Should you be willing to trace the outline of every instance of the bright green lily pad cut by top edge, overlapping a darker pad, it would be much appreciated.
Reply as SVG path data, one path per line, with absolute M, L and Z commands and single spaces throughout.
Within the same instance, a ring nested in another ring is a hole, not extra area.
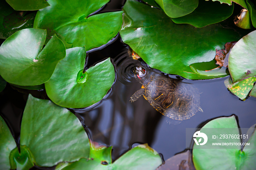
M 170 18 L 177 18 L 194 11 L 198 5 L 198 0 L 155 0 Z

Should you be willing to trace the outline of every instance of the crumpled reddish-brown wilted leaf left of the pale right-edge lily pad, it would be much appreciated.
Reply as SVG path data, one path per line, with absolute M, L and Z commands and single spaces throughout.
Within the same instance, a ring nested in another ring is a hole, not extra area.
M 236 41 L 227 42 L 225 44 L 225 49 L 221 49 L 221 50 L 216 49 L 216 55 L 215 55 L 215 60 L 217 61 L 216 64 L 227 67 L 229 53 L 236 43 L 237 43 Z

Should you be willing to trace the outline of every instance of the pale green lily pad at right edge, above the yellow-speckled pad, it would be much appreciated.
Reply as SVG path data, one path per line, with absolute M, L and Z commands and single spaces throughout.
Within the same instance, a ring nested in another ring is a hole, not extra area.
M 233 83 L 256 76 L 256 31 L 241 38 L 229 54 L 229 72 Z

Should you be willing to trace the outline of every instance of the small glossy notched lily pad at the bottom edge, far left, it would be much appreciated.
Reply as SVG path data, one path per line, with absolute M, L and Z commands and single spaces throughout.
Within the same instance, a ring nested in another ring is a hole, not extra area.
M 28 170 L 35 165 L 35 158 L 26 146 L 20 146 L 11 151 L 10 154 L 11 169 Z

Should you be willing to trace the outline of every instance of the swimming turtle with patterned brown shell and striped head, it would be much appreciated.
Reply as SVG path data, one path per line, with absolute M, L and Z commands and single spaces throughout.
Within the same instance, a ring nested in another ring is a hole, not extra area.
M 132 102 L 143 95 L 158 112 L 175 120 L 189 119 L 198 110 L 202 111 L 199 91 L 191 84 L 158 73 L 150 74 L 141 66 L 135 67 L 133 73 L 143 86 L 132 95 Z

